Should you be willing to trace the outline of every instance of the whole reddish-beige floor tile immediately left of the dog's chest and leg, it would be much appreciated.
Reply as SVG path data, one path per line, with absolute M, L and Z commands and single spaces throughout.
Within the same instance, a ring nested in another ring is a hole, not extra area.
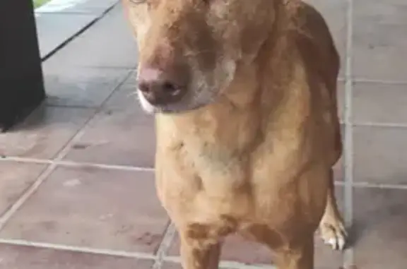
M 60 167 L 0 237 L 153 253 L 167 222 L 152 172 Z

